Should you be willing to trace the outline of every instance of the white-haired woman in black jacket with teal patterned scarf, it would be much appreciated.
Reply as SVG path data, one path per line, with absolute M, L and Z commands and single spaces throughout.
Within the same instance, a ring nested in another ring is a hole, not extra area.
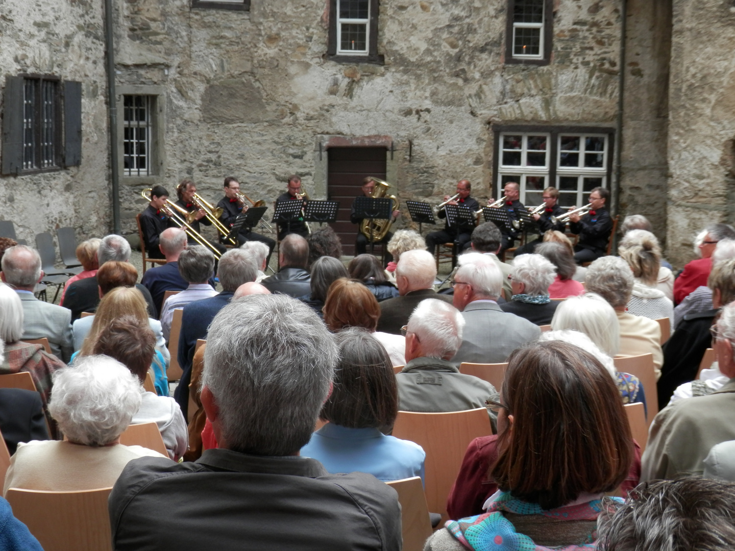
M 513 259 L 509 275 L 513 296 L 501 309 L 526 318 L 536 325 L 548 325 L 559 304 L 549 298 L 549 286 L 556 278 L 556 267 L 540 254 L 523 254 Z

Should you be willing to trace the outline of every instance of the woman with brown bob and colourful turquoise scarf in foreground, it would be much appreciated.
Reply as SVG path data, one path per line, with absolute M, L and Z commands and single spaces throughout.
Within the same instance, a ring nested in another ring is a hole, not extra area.
M 634 459 L 607 370 L 574 345 L 534 342 L 512 353 L 495 406 L 498 459 L 490 476 L 498 491 L 486 513 L 448 522 L 424 549 L 484 550 L 498 539 L 517 549 L 592 544 L 600 501 Z

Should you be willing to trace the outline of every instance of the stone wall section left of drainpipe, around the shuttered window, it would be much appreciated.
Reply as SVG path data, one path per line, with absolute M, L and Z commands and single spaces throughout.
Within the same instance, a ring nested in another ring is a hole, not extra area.
M 18 238 L 73 226 L 77 238 L 111 226 L 104 33 L 99 0 L 0 2 L 0 69 L 82 82 L 82 164 L 24 176 L 0 176 L 0 218 Z M 4 104 L 3 104 L 4 105 Z M 4 112 L 4 108 L 3 108 Z

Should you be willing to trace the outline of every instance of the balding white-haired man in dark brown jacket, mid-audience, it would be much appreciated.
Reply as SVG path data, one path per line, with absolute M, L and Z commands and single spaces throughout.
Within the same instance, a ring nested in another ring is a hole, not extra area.
M 437 264 L 431 253 L 419 250 L 401 253 L 398 267 L 395 268 L 395 284 L 400 296 L 380 303 L 378 331 L 400 335 L 413 309 L 425 298 L 451 302 L 451 297 L 434 291 L 436 278 Z

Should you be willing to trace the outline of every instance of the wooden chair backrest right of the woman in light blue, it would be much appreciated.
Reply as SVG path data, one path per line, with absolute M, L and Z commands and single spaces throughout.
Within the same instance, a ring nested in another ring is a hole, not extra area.
M 448 413 L 398 411 L 393 436 L 416 442 L 426 452 L 424 481 L 429 510 L 447 520 L 447 497 L 465 450 L 478 436 L 490 436 L 487 408 Z

